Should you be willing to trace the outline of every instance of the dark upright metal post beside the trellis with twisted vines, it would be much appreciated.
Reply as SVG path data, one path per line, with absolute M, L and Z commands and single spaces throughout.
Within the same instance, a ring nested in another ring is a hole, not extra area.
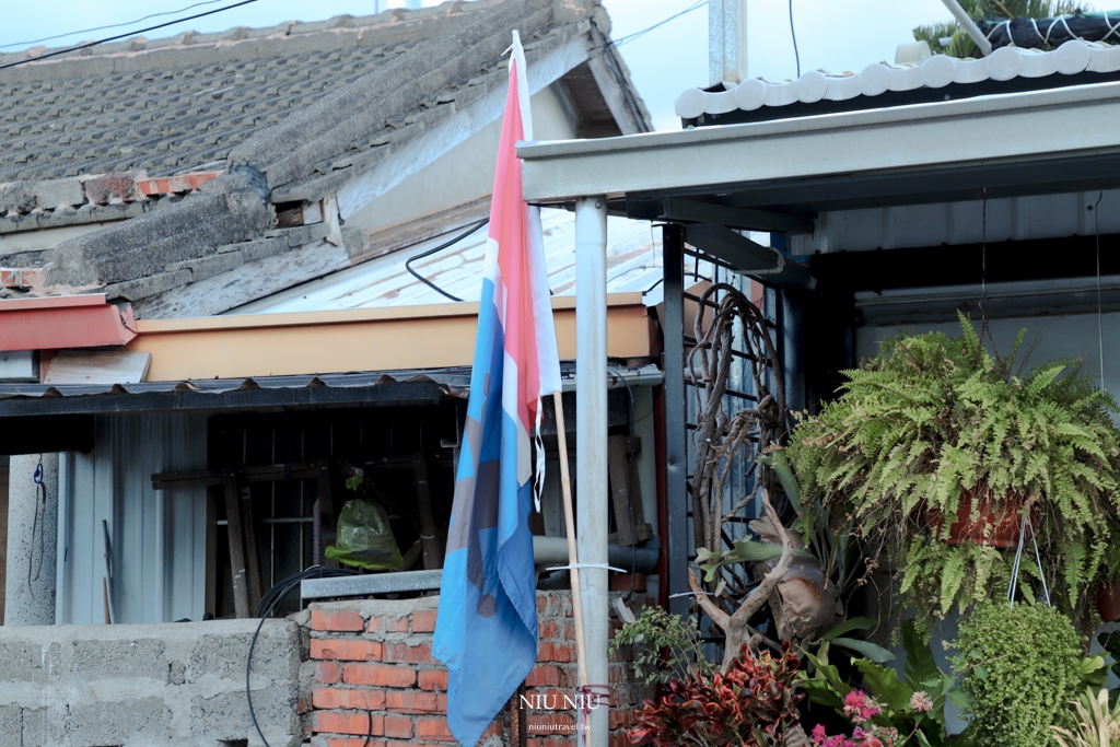
M 665 318 L 661 329 L 665 340 L 665 503 L 666 522 L 661 541 L 665 545 L 669 609 L 688 615 L 690 599 L 674 597 L 689 590 L 689 495 L 688 441 L 684 431 L 684 230 L 679 225 L 661 228 L 664 259 Z

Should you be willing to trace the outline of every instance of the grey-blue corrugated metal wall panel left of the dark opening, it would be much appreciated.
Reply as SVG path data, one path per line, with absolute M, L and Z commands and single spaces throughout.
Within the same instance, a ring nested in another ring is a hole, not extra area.
M 92 451 L 66 459 L 58 622 L 104 622 L 102 521 L 118 623 L 202 619 L 205 489 L 155 491 L 151 474 L 205 468 L 205 415 L 101 415 L 96 437 Z

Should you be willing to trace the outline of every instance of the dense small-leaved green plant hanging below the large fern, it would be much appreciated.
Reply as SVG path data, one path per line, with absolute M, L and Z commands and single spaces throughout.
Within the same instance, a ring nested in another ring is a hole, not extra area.
M 961 623 L 954 657 L 977 744 L 1054 745 L 1049 727 L 1068 725 L 1066 703 L 1082 687 L 1080 644 L 1070 618 L 1051 607 L 977 605 Z

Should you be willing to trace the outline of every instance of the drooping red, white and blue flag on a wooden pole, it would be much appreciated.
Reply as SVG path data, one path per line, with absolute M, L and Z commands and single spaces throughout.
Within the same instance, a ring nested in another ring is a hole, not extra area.
M 560 362 L 539 208 L 522 198 L 515 151 L 519 140 L 531 138 L 525 56 L 514 31 L 432 646 L 448 669 L 447 723 L 467 747 L 536 662 L 530 433 L 540 422 L 541 398 L 560 391 Z M 538 478 L 542 456 L 539 450 Z

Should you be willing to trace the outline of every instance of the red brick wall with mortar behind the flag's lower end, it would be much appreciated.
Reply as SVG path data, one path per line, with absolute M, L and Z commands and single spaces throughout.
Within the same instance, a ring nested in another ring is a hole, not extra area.
M 314 680 L 307 685 L 312 747 L 363 747 L 368 735 L 367 747 L 455 744 L 444 717 L 447 670 L 431 655 L 438 603 L 438 597 L 426 597 L 310 606 L 306 666 Z M 556 695 L 554 702 L 563 703 L 578 683 L 571 594 L 538 592 L 536 615 L 538 663 L 525 682 L 526 694 Z M 628 655 L 619 651 L 610 662 L 612 747 L 629 744 L 625 730 L 633 709 L 648 695 L 634 683 Z M 576 744 L 575 711 L 541 709 L 525 716 L 526 747 Z M 511 744 L 508 710 L 479 744 Z

